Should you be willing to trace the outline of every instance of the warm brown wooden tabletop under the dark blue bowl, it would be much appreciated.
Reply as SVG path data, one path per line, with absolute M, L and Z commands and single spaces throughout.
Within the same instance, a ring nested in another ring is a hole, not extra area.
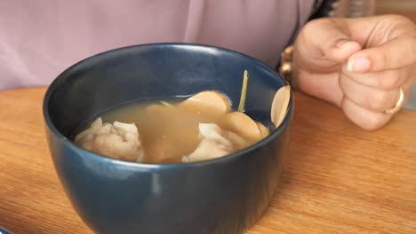
M 44 91 L 0 92 L 0 227 L 91 233 L 52 165 Z M 366 132 L 332 105 L 300 93 L 295 102 L 290 160 L 248 233 L 416 233 L 416 112 Z

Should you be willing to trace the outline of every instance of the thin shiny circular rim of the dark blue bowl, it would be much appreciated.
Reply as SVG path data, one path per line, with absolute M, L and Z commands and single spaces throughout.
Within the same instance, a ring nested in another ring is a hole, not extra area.
M 246 154 L 249 154 L 249 152 L 252 152 L 258 148 L 266 146 L 271 141 L 273 141 L 277 136 L 280 136 L 284 132 L 284 129 L 288 128 L 289 124 L 292 121 L 292 116 L 294 112 L 294 99 L 292 95 L 292 89 L 291 89 L 291 98 L 289 101 L 288 109 L 287 109 L 287 112 L 285 113 L 284 120 L 282 121 L 280 126 L 278 126 L 276 129 L 271 131 L 268 136 L 262 138 L 260 141 L 256 142 L 255 144 L 252 144 L 242 150 L 230 153 L 220 158 L 211 159 L 211 160 L 201 160 L 201 161 L 187 162 L 187 163 L 182 163 L 182 162 L 181 163 L 141 163 L 141 162 L 135 162 L 135 161 L 118 160 L 118 159 L 110 158 L 106 155 L 88 151 L 84 149 L 83 147 L 80 147 L 74 144 L 71 140 L 68 139 L 67 136 L 64 136 L 63 134 L 60 133 L 60 130 L 58 130 L 55 127 L 55 125 L 52 123 L 52 120 L 50 118 L 49 111 L 48 111 L 48 106 L 49 106 L 52 93 L 54 92 L 54 90 L 56 90 L 59 87 L 60 82 L 66 79 L 65 77 L 67 73 L 76 69 L 77 66 L 83 65 L 85 62 L 100 58 L 108 54 L 112 54 L 112 53 L 116 53 L 120 51 L 129 51 L 134 48 L 140 48 L 140 47 L 158 47 L 158 46 L 196 47 L 196 48 L 220 50 L 220 51 L 224 51 L 227 53 L 236 54 L 243 58 L 252 60 L 256 64 L 256 66 L 262 66 L 263 68 L 271 72 L 271 74 L 275 74 L 277 79 L 280 79 L 284 83 L 289 85 L 289 83 L 280 74 L 274 71 L 270 66 L 267 66 L 266 64 L 261 62 L 259 59 L 253 58 L 252 56 L 246 55 L 239 51 L 233 51 L 233 50 L 219 47 L 219 46 L 207 45 L 207 44 L 202 44 L 202 43 L 142 43 L 142 44 L 134 44 L 134 45 L 124 46 L 124 47 L 119 47 L 119 48 L 108 50 L 108 51 L 102 51 L 90 57 L 84 58 L 76 62 L 72 66 L 68 66 L 68 68 L 66 68 L 63 72 L 58 74 L 58 76 L 52 81 L 52 83 L 47 88 L 44 94 L 44 100 L 43 100 L 43 105 L 42 105 L 44 122 L 45 122 L 46 127 L 55 136 L 57 141 L 59 141 L 60 144 L 67 145 L 67 147 L 69 147 L 71 150 L 83 152 L 83 155 L 87 155 L 86 157 L 92 157 L 92 160 L 100 160 L 103 162 L 109 162 L 109 163 L 116 164 L 116 165 L 124 165 L 124 166 L 129 166 L 132 168 L 153 168 L 153 169 L 194 168 L 194 167 L 202 167 L 205 165 L 212 165 L 212 164 L 219 164 L 219 163 L 222 164 L 222 163 L 227 163 L 228 161 L 231 161 L 231 160 L 236 160 L 237 158 L 240 158 Z M 51 156 L 53 157 L 52 152 L 51 152 Z

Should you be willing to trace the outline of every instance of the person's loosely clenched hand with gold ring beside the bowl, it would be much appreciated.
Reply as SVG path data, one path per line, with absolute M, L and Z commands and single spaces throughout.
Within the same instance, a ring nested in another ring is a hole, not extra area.
M 402 16 L 312 20 L 293 51 L 292 80 L 311 96 L 340 106 L 367 130 L 391 120 L 416 77 L 416 26 Z

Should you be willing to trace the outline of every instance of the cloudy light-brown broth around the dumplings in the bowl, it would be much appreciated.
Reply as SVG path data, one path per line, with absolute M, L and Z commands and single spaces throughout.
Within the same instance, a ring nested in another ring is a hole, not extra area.
M 200 123 L 214 123 L 230 132 L 238 132 L 245 127 L 238 126 L 238 121 L 233 122 L 229 121 L 229 118 L 224 118 L 227 113 L 212 112 L 207 108 L 200 108 L 199 105 L 181 108 L 178 104 L 184 99 L 164 98 L 132 102 L 111 108 L 101 113 L 99 117 L 102 118 L 102 122 L 135 123 L 144 151 L 140 160 L 142 163 L 182 162 L 182 157 L 194 152 L 200 144 L 201 136 L 198 128 Z M 264 127 L 260 122 L 257 124 Z M 250 135 L 239 136 L 243 141 L 239 141 L 236 150 L 259 141 L 258 138 Z

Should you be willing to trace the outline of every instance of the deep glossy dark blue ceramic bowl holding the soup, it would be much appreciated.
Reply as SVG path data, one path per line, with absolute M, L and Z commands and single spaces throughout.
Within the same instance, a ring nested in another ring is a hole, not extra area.
M 83 221 L 104 234 L 240 233 L 256 222 L 281 173 L 292 99 L 283 124 L 268 137 L 216 160 L 140 164 L 88 152 L 69 139 L 96 114 L 132 100 L 220 90 L 238 104 L 245 69 L 246 110 L 269 122 L 272 99 L 286 82 L 236 51 L 144 44 L 84 59 L 60 74 L 44 97 L 46 136 L 60 182 Z

